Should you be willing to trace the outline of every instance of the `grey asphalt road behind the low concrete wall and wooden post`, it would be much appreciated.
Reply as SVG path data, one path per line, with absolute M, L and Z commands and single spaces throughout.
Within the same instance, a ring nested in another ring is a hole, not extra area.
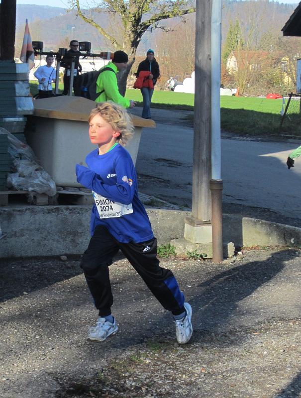
M 191 207 L 193 128 L 185 126 L 187 113 L 152 110 L 157 127 L 143 129 L 136 169 L 142 193 Z M 301 159 L 291 170 L 286 166 L 299 145 L 297 140 L 273 142 L 264 132 L 259 138 L 223 133 L 223 201 L 301 219 Z

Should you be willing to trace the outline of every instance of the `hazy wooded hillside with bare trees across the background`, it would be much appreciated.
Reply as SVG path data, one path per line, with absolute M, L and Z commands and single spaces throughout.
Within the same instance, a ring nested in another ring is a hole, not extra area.
M 281 29 L 296 6 L 297 4 L 267 0 L 223 2 L 222 83 L 225 87 L 240 85 L 247 94 L 293 90 L 296 83 L 296 60 L 301 57 L 301 38 L 283 37 Z M 71 27 L 74 26 L 73 38 L 91 41 L 95 52 L 114 51 L 112 43 L 100 35 L 94 26 L 77 16 L 76 10 L 67 12 L 63 8 L 38 5 L 32 8 L 28 5 L 27 10 L 21 10 L 21 5 L 17 7 L 16 56 L 21 46 L 26 17 L 29 19 L 32 39 L 43 41 L 46 50 L 68 47 Z M 105 9 L 96 12 L 92 8 L 89 12 L 102 28 L 120 39 L 120 17 L 110 15 Z M 131 72 L 136 70 L 138 61 L 143 59 L 145 51 L 151 47 L 155 50 L 155 57 L 161 67 L 158 87 L 163 88 L 170 76 L 183 81 L 194 70 L 195 13 L 160 21 L 158 26 L 162 29 L 154 30 L 150 27 L 143 34 Z M 240 66 L 240 71 L 236 74 L 229 73 L 227 68 L 231 52 L 236 54 Z M 256 62 L 251 59 L 251 54 Z

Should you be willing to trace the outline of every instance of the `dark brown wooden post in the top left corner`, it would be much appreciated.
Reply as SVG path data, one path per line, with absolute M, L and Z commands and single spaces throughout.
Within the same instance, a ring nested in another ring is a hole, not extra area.
M 1 0 L 0 4 L 0 60 L 14 59 L 16 0 Z

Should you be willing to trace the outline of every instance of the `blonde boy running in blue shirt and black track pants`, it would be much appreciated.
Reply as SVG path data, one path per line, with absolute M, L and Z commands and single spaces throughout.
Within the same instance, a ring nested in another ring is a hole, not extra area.
M 88 340 L 104 341 L 118 327 L 111 314 L 113 296 L 108 266 L 120 249 L 161 305 L 172 312 L 177 340 L 187 343 L 193 333 L 192 308 L 185 302 L 170 270 L 159 266 L 157 239 L 138 198 L 137 176 L 129 153 L 123 148 L 132 138 L 133 125 L 120 105 L 99 103 L 90 113 L 89 136 L 98 148 L 87 158 L 87 167 L 76 165 L 77 181 L 91 189 L 91 240 L 81 267 L 99 311 Z

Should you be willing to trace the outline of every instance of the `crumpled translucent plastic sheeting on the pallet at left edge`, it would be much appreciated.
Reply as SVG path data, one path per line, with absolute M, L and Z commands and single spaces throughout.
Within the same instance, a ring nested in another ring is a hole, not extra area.
M 54 196 L 56 194 L 55 182 L 37 163 L 32 149 L 2 127 L 0 127 L 0 134 L 6 134 L 8 137 L 8 153 L 15 169 L 15 173 L 9 173 L 7 176 L 7 186 L 18 191 Z

